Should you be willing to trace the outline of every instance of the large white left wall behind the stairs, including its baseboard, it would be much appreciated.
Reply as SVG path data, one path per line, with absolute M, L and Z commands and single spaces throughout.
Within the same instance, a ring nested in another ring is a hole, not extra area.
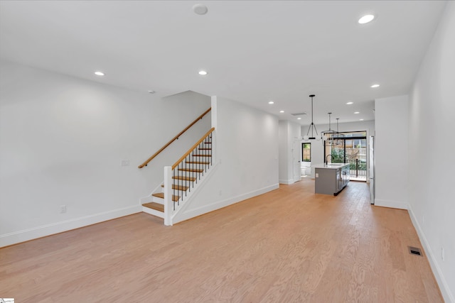
M 210 97 L 161 100 L 6 61 L 0 71 L 0 246 L 140 211 L 164 165 L 210 129 L 209 114 L 139 170 Z

